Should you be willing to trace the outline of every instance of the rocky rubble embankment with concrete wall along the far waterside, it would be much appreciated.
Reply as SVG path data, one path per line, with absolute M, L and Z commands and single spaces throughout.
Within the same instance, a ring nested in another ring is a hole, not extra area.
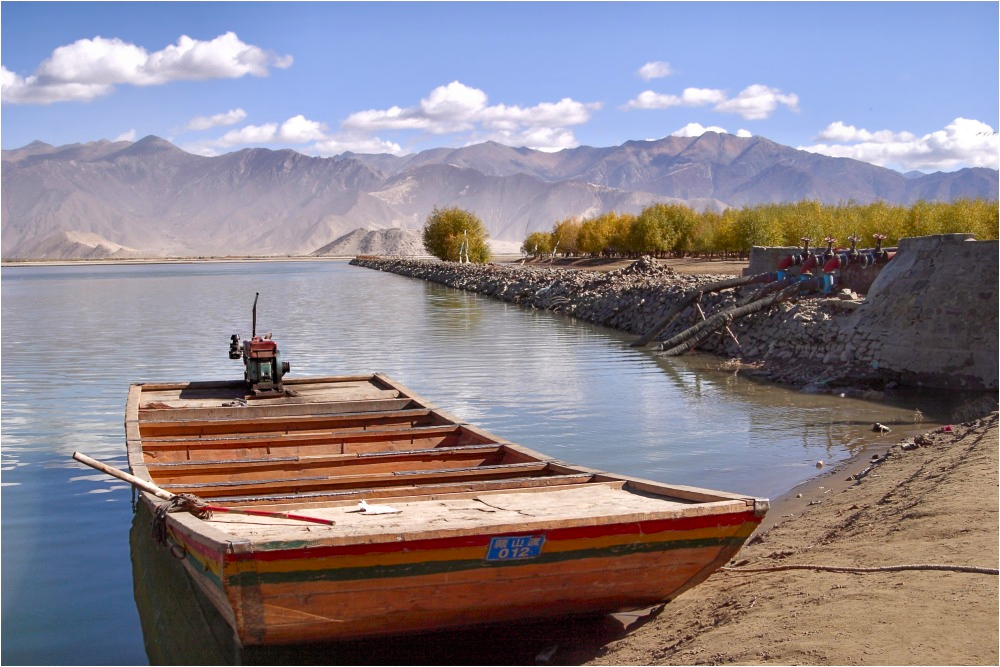
M 975 275 L 968 278 L 974 284 L 953 298 L 938 290 L 953 288 L 956 280 L 945 259 L 954 256 L 958 264 L 972 261 L 970 253 L 976 260 L 985 253 L 989 261 L 996 254 L 996 243 L 962 243 L 948 237 L 904 239 L 901 254 L 906 241 L 914 242 L 911 257 L 919 259 L 929 252 L 938 265 L 920 268 L 926 262 L 918 262 L 914 268 L 913 262 L 897 257 L 899 270 L 883 270 L 867 299 L 847 290 L 803 293 L 727 320 L 728 329 L 718 329 L 698 349 L 727 357 L 731 360 L 727 363 L 745 372 L 815 392 L 861 392 L 897 384 L 995 390 L 995 272 L 982 280 Z M 679 275 L 649 257 L 604 273 L 388 258 L 359 258 L 352 264 L 549 310 L 637 337 L 657 327 L 693 291 L 732 278 Z M 705 291 L 651 344 L 662 345 L 705 317 L 745 303 L 757 289 L 761 287 Z M 876 294 L 879 298 L 873 299 Z

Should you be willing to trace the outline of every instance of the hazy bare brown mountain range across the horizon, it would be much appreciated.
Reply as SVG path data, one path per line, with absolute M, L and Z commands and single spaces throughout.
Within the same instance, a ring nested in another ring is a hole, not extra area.
M 216 157 L 148 136 L 2 152 L 4 259 L 306 255 L 355 229 L 418 230 L 434 207 L 478 215 L 520 242 L 567 217 L 802 199 L 837 204 L 998 198 L 995 169 L 906 174 L 782 146 L 699 137 L 555 153 L 487 142 L 406 156 L 310 157 L 251 148 Z

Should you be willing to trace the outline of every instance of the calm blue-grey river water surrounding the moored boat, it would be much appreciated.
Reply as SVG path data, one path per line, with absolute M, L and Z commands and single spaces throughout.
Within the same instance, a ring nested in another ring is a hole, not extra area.
M 873 421 L 919 408 L 923 427 L 898 439 L 949 409 L 764 386 L 717 359 L 659 359 L 615 331 L 338 261 L 10 267 L 0 282 L 4 664 L 162 659 L 133 594 L 131 490 L 70 457 L 127 468 L 131 382 L 242 377 L 229 337 L 249 334 L 255 292 L 258 332 L 292 377 L 381 371 L 514 442 L 666 482 L 774 497 L 871 441 Z

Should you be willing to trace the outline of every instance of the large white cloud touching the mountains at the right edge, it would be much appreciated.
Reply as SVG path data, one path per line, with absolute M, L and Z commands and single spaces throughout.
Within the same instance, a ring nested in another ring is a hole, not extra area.
M 1000 167 L 1000 137 L 997 132 L 986 123 L 968 118 L 956 118 L 944 129 L 922 137 L 889 130 L 869 132 L 837 121 L 828 125 L 817 139 L 835 143 L 798 148 L 903 171 Z

